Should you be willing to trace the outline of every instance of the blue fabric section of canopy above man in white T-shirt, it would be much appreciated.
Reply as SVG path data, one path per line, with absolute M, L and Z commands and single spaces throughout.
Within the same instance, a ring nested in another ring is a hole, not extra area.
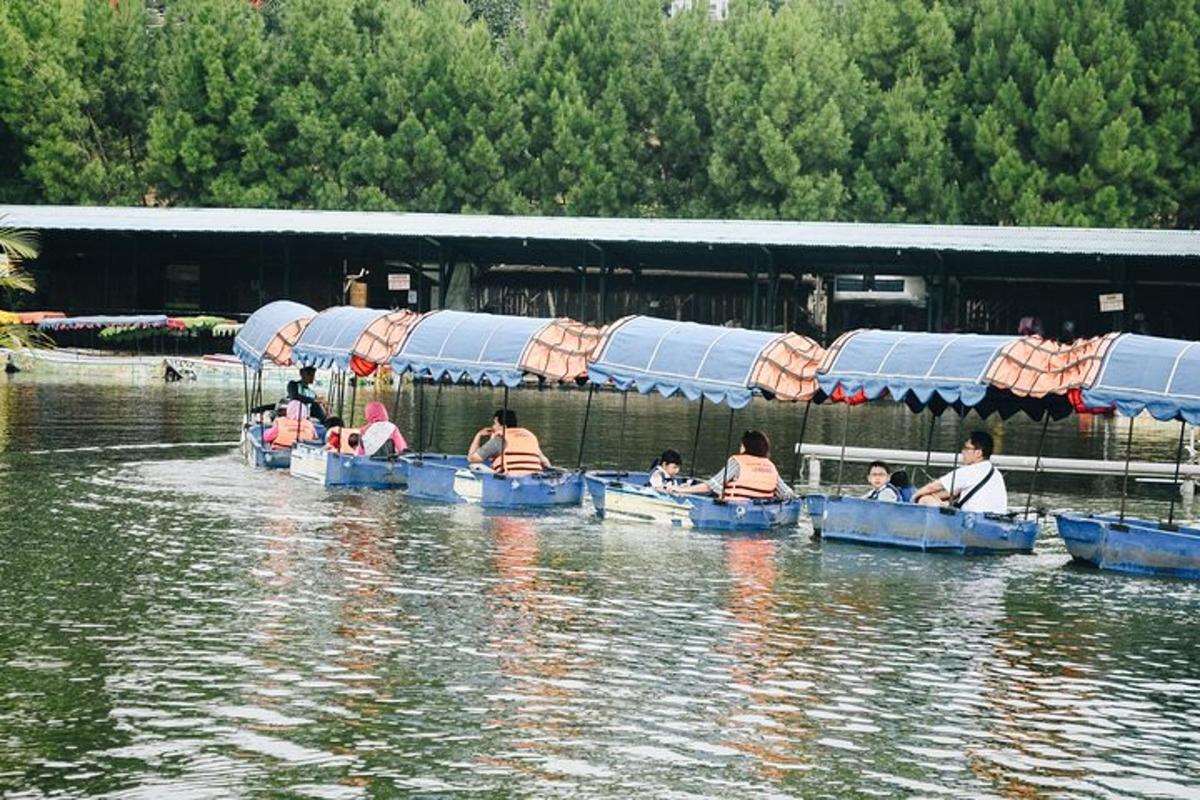
M 988 397 L 988 368 L 1014 338 L 854 331 L 830 348 L 833 357 L 817 372 L 817 385 L 827 395 L 840 387 L 847 397 L 862 391 L 875 399 L 887 392 L 919 408 L 973 408 Z

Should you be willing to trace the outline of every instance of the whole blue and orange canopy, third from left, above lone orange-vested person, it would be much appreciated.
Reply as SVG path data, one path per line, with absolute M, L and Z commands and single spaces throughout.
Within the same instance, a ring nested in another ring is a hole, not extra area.
M 436 311 L 421 317 L 391 360 L 397 374 L 516 386 L 522 375 L 575 380 L 600 331 L 570 319 Z

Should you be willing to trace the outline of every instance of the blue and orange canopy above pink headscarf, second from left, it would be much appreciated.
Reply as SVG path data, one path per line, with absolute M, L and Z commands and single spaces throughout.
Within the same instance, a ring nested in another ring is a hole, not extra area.
M 326 308 L 305 327 L 292 348 L 292 357 L 306 367 L 353 369 L 366 377 L 396 355 L 419 317 L 412 311 Z

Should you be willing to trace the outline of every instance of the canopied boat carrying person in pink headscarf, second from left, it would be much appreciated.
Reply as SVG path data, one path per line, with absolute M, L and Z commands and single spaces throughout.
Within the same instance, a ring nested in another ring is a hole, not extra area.
M 419 314 L 412 311 L 380 311 L 335 306 L 313 317 L 292 347 L 292 360 L 302 367 L 330 369 L 336 377 L 338 416 L 344 407 L 344 384 L 349 375 L 350 407 L 343 435 L 354 428 L 359 383 L 378 372 L 396 354 Z M 397 397 L 400 386 L 396 386 Z M 365 404 L 364 404 L 365 405 Z M 289 464 L 294 477 L 326 487 L 402 489 L 408 485 L 408 464 L 398 458 L 336 452 L 324 443 L 296 443 Z

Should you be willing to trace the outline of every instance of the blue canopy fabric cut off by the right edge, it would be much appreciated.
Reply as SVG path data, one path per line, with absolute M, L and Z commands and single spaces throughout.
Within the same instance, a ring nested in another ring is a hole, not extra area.
M 1084 389 L 1091 408 L 1116 405 L 1124 416 L 1200 425 L 1200 342 L 1124 333 L 1109 348 L 1096 381 Z

